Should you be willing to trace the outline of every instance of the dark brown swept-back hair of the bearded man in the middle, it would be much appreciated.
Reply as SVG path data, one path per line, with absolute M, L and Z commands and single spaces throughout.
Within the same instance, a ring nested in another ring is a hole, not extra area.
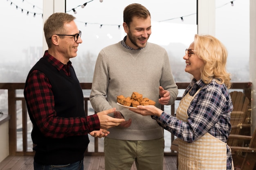
M 142 17 L 146 19 L 148 16 L 151 17 L 150 12 L 141 4 L 130 4 L 124 9 L 124 22 L 126 22 L 127 26 L 130 26 L 133 17 Z

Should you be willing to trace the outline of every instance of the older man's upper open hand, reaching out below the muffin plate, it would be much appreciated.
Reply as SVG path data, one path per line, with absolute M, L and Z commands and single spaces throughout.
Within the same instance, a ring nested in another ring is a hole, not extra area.
M 114 126 L 118 126 L 125 121 L 124 119 L 112 118 L 108 116 L 109 113 L 113 113 L 114 111 L 116 111 L 116 108 L 104 110 L 97 113 L 101 124 L 101 129 L 109 129 Z

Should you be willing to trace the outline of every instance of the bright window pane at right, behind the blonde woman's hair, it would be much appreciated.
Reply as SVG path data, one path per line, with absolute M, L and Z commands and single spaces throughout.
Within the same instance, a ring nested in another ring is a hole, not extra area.
M 223 6 L 223 4 L 225 4 Z M 216 0 L 216 37 L 228 51 L 232 82 L 249 81 L 249 0 Z

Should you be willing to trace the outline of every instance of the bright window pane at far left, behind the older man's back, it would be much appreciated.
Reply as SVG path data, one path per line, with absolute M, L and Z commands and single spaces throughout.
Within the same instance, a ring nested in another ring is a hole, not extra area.
M 43 56 L 43 1 L 0 1 L 0 6 L 0 82 L 24 83 L 31 67 Z

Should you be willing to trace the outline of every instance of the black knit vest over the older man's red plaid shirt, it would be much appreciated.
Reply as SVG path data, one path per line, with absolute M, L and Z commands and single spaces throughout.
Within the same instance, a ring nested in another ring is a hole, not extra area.
M 33 70 L 43 72 L 49 79 L 54 94 L 54 109 L 58 117 L 85 117 L 83 92 L 72 67 L 70 67 L 71 77 L 69 77 L 63 70 L 58 71 L 47 59 L 41 58 L 30 70 L 29 74 Z M 26 86 L 27 80 L 25 83 Z M 36 163 L 57 165 L 74 163 L 83 159 L 83 154 L 89 144 L 88 135 L 75 135 L 62 139 L 45 137 L 36 125 L 28 105 L 27 109 L 33 124 L 31 137 L 33 143 L 36 144 L 33 148 L 36 151 L 34 157 Z

